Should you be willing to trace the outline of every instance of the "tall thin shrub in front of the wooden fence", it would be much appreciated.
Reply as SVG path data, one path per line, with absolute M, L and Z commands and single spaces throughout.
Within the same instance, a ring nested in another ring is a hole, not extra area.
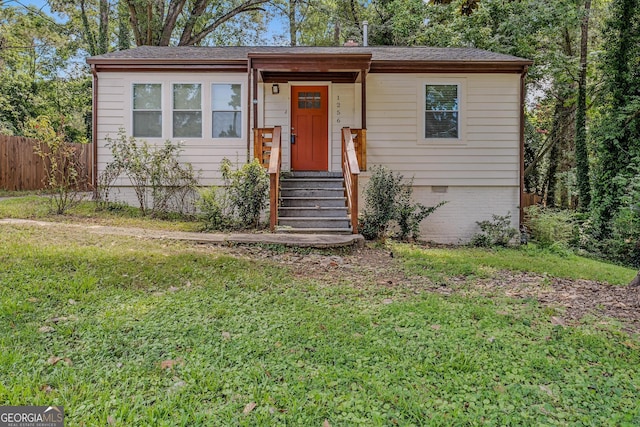
M 76 147 L 67 141 L 63 123 L 55 129 L 47 116 L 29 119 L 25 135 L 38 140 L 34 152 L 43 160 L 45 185 L 52 192 L 55 212 L 61 215 L 82 200 Z

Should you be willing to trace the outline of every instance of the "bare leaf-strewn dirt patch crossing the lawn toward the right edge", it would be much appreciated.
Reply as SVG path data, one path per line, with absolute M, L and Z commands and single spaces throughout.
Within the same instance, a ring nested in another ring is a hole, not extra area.
M 354 287 L 384 286 L 408 294 L 434 292 L 451 295 L 483 295 L 533 299 L 558 311 L 558 324 L 575 324 L 584 316 L 616 319 L 629 332 L 640 332 L 640 288 L 613 286 L 589 280 L 569 280 L 533 273 L 502 271 L 489 279 L 452 277 L 446 285 L 426 277 L 407 275 L 402 263 L 388 250 L 365 247 L 348 254 L 278 252 L 240 246 L 231 251 L 252 259 L 287 266 L 299 278 L 319 283 L 343 283 Z

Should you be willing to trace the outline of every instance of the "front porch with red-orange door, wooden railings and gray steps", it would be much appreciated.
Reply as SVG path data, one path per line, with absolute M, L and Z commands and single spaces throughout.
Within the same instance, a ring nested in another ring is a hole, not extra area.
M 250 134 L 270 175 L 272 231 L 358 233 L 370 66 L 371 53 L 355 49 L 249 54 Z

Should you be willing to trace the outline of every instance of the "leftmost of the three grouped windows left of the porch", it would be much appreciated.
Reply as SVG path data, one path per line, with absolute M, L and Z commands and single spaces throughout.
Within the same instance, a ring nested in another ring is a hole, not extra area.
M 162 137 L 162 84 L 133 85 L 133 136 Z

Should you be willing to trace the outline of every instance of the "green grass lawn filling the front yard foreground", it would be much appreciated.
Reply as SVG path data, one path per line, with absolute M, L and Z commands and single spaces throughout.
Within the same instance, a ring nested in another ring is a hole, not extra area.
M 2 225 L 0 405 L 64 405 L 69 426 L 640 425 L 637 333 L 470 292 L 505 269 L 635 274 L 535 251 L 332 256 Z

